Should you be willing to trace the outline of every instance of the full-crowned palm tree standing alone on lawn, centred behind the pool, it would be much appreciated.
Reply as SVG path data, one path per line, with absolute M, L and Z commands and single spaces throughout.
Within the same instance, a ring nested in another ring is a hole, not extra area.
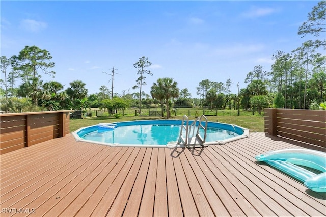
M 179 97 L 178 83 L 173 78 L 158 78 L 156 83 L 151 87 L 151 95 L 160 101 L 164 101 L 167 106 L 167 119 L 170 117 L 169 100 Z

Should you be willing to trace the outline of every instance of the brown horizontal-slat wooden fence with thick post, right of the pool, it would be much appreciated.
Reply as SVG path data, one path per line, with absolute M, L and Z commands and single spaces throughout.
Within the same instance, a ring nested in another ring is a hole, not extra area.
M 265 108 L 265 133 L 326 147 L 326 110 Z

